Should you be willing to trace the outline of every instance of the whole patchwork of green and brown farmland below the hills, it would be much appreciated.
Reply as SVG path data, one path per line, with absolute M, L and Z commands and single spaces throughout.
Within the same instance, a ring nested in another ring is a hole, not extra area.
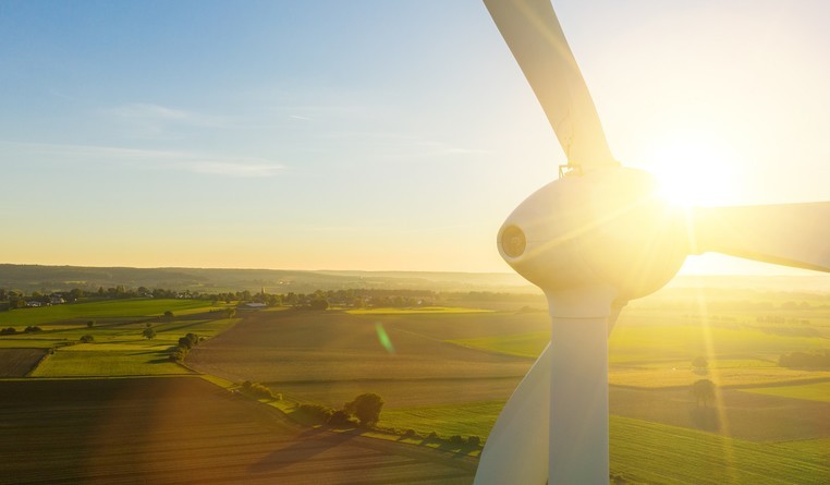
M 830 348 L 828 307 L 819 298 L 784 312 L 784 296 L 771 301 L 772 307 L 750 303 L 743 310 L 721 301 L 712 305 L 720 310 L 705 313 L 682 299 L 654 299 L 622 314 L 609 355 L 612 474 L 658 484 L 830 477 L 830 372 L 777 364 L 784 352 Z M 186 475 L 206 483 L 307 483 L 312 476 L 343 483 L 321 471 L 325 464 L 345 477 L 353 471 L 366 478 L 355 478 L 361 483 L 469 483 L 475 450 L 434 449 L 423 437 L 436 432 L 443 438 L 486 439 L 549 335 L 547 313 L 510 310 L 504 302 L 483 302 L 481 308 L 468 302 L 274 308 L 240 312 L 236 318 L 228 318 L 221 306 L 186 300 L 70 306 L 82 312 L 71 317 L 56 307 L 4 313 L 7 322 L 25 318 L 13 324 L 21 332 L 0 338 L 0 371 L 30 376 L 0 381 L 0 392 L 9 396 L 0 407 L 0 426 L 21 436 L 28 454 L 51 460 L 53 466 L 42 473 L 69 482 L 118 483 L 127 476 L 175 482 Z M 168 311 L 173 315 L 164 316 Z M 40 331 L 22 332 L 35 324 Z M 148 326 L 156 331 L 151 340 L 142 337 Z M 186 332 L 208 340 L 182 366 L 168 356 Z M 81 343 L 85 335 L 94 340 Z M 707 365 L 693 366 L 700 355 Z M 297 428 L 267 405 L 208 385 L 194 375 L 199 373 L 213 381 L 264 383 L 281 395 L 283 401 L 273 404 L 289 414 L 296 403 L 340 408 L 358 393 L 377 392 L 386 401 L 380 425 L 416 436 L 394 444 L 355 432 Z M 112 379 L 118 376 L 132 378 Z M 700 378 L 717 384 L 715 399 L 705 404 L 688 391 Z M 32 387 L 14 387 L 24 385 Z M 21 399 L 11 397 L 15 393 Z M 185 415 L 187 402 L 193 416 Z M 196 410 L 203 403 L 204 413 Z M 121 416 L 133 414 L 141 429 L 121 423 Z M 23 429 L 37 433 L 23 436 Z M 83 446 L 70 449 L 71 439 Z M 2 451 L 17 457 L 21 450 Z M 173 470 L 179 460 L 187 463 L 182 474 Z M 8 461 L 0 475 L 32 476 L 32 483 L 46 476 L 26 463 Z

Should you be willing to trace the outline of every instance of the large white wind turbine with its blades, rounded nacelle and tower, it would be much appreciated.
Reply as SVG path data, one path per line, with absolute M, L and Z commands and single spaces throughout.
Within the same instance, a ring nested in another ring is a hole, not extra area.
M 484 0 L 567 157 L 499 230 L 501 256 L 545 292 L 551 343 L 510 398 L 475 483 L 608 484 L 608 334 L 620 310 L 719 252 L 830 271 L 830 202 L 672 208 L 611 155 L 549 0 Z

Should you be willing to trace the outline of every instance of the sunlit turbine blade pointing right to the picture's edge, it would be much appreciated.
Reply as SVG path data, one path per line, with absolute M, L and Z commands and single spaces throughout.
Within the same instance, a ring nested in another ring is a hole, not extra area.
M 696 208 L 693 251 L 830 271 L 830 202 Z

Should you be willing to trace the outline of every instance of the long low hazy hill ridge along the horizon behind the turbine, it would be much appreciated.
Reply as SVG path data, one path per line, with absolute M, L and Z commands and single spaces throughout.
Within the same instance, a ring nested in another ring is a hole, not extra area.
M 97 290 L 123 284 L 199 292 L 259 291 L 308 293 L 349 288 L 432 291 L 540 293 L 510 272 L 288 270 L 225 268 L 125 268 L 0 264 L 0 288 L 30 291 Z M 679 276 L 667 290 L 730 288 L 757 291 L 830 292 L 830 275 L 815 276 Z M 667 291 L 663 290 L 663 291 Z

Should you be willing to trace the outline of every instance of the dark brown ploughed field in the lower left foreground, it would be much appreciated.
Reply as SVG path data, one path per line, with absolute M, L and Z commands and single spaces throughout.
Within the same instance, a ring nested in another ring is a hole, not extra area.
M 302 429 L 187 377 L 0 381 L 0 483 L 467 484 L 476 468 L 450 452 Z

